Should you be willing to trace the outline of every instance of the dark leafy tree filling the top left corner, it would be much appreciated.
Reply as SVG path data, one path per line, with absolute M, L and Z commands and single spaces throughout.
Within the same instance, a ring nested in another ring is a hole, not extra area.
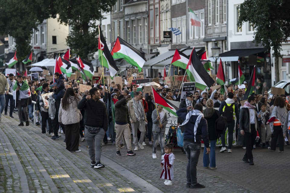
M 0 0 L 0 34 L 9 34 L 16 43 L 18 61 L 31 52 L 33 30 L 51 15 L 53 0 Z

